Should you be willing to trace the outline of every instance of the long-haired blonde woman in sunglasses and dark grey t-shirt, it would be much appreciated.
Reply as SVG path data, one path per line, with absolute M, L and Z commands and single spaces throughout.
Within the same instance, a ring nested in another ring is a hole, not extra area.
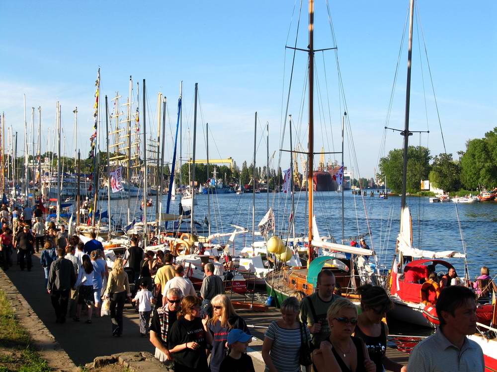
M 244 319 L 237 314 L 230 298 L 226 295 L 217 295 L 212 301 L 213 315 L 207 321 L 209 332 L 212 335 L 212 351 L 210 360 L 211 372 L 219 372 L 221 363 L 228 353 L 226 342 L 228 341 L 228 333 L 232 329 L 241 329 L 248 335 L 250 331 Z

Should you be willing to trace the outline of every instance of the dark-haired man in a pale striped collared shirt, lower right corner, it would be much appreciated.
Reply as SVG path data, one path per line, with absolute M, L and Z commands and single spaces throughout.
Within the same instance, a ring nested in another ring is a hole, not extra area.
M 480 345 L 466 335 L 476 332 L 476 300 L 466 287 L 446 287 L 438 297 L 440 326 L 416 345 L 409 357 L 412 372 L 484 372 Z

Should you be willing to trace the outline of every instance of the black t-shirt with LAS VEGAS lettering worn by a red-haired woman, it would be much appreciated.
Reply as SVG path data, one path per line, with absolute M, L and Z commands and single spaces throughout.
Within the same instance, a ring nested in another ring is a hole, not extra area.
M 176 345 L 187 342 L 196 342 L 200 345 L 196 350 L 186 348 L 172 354 L 174 358 L 174 371 L 189 371 L 192 368 L 195 371 L 208 371 L 207 355 L 205 354 L 207 340 L 200 318 L 186 320 L 184 317 L 181 317 L 176 320 L 172 325 L 167 341 L 169 350 L 173 349 Z

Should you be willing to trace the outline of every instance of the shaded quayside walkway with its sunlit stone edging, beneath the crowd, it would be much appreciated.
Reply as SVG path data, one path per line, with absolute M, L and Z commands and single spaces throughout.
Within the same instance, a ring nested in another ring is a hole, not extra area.
M 42 357 L 50 366 L 57 370 L 72 371 L 76 366 L 92 363 L 100 356 L 126 352 L 154 353 L 149 339 L 140 337 L 139 316 L 131 304 L 126 304 L 124 308 L 124 331 L 120 338 L 112 337 L 109 316 L 94 317 L 91 324 L 84 323 L 84 315 L 80 322 L 68 317 L 65 324 L 56 323 L 50 295 L 44 288 L 45 274 L 39 256 L 32 256 L 31 271 L 20 271 L 15 264 L 6 275 L 0 270 L 0 288 L 7 292 L 10 301 L 15 302 L 21 323 L 35 336 L 35 340 L 40 338 L 37 348 L 42 350 Z M 13 260 L 15 262 L 15 254 Z M 27 320 L 30 322 L 26 323 Z M 260 346 L 257 345 L 262 345 L 260 340 L 252 342 L 252 349 L 248 351 L 255 371 L 262 372 L 264 363 Z

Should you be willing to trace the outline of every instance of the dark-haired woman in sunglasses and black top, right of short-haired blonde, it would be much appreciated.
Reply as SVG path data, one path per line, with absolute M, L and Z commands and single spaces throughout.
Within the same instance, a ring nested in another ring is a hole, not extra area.
M 392 309 L 392 300 L 385 290 L 371 284 L 357 288 L 361 295 L 361 314 L 357 317 L 354 336 L 361 338 L 368 349 L 369 358 L 376 365 L 376 372 L 385 369 L 394 372 L 407 372 L 407 367 L 390 360 L 386 356 L 388 326 L 382 319 Z

